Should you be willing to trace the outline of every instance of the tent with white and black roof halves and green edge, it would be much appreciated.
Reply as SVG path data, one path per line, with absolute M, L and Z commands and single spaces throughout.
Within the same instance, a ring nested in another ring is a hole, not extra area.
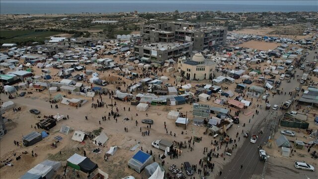
M 74 154 L 67 160 L 68 166 L 73 169 L 80 170 L 84 173 L 90 174 L 95 169 L 98 168 L 97 164 L 93 163 L 87 157 L 80 156 L 79 154 Z

